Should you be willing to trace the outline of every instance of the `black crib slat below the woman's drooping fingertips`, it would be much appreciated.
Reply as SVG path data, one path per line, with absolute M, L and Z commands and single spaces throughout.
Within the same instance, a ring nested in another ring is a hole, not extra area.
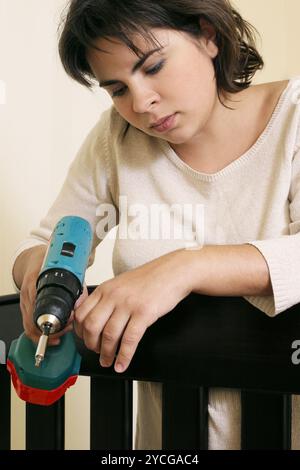
M 132 449 L 132 381 L 91 378 L 91 450 Z

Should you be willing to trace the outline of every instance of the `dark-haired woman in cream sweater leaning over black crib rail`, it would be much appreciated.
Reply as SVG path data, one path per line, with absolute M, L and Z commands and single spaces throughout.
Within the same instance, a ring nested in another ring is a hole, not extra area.
M 59 49 L 66 72 L 103 87 L 113 107 L 16 253 L 26 334 L 39 336 L 45 246 L 71 214 L 91 223 L 94 250 L 119 223 L 116 277 L 75 309 L 102 367 L 116 355 L 115 370 L 126 370 L 146 329 L 191 292 L 243 296 L 269 316 L 299 303 L 300 80 L 251 86 L 263 60 L 230 3 L 73 0 Z M 161 234 L 157 207 L 184 233 Z M 160 422 L 160 384 L 139 383 L 137 448 L 161 447 Z M 239 448 L 239 426 L 239 393 L 210 390 L 209 448 Z

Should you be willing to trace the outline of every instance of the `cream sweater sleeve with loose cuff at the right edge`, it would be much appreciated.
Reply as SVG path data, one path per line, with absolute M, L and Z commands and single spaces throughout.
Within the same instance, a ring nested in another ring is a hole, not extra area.
M 256 306 L 269 316 L 300 303 L 300 148 L 292 162 L 289 203 L 289 235 L 250 242 L 261 252 L 269 268 L 273 288 L 272 307 L 269 297 L 255 299 Z

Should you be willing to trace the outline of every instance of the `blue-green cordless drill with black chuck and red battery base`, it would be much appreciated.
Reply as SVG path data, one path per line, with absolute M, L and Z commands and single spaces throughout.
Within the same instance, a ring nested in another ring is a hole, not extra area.
M 56 225 L 37 279 L 34 322 L 41 331 L 37 348 L 23 333 L 11 344 L 7 369 L 22 400 L 39 405 L 57 401 L 77 379 L 81 357 L 72 333 L 47 349 L 49 335 L 62 331 L 83 291 L 92 247 L 90 224 L 66 216 Z M 35 349 L 36 348 L 36 349 Z

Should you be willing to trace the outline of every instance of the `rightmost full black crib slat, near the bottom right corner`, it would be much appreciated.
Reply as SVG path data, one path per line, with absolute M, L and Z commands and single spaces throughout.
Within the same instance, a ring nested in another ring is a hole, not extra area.
M 291 395 L 242 392 L 243 450 L 291 448 Z

